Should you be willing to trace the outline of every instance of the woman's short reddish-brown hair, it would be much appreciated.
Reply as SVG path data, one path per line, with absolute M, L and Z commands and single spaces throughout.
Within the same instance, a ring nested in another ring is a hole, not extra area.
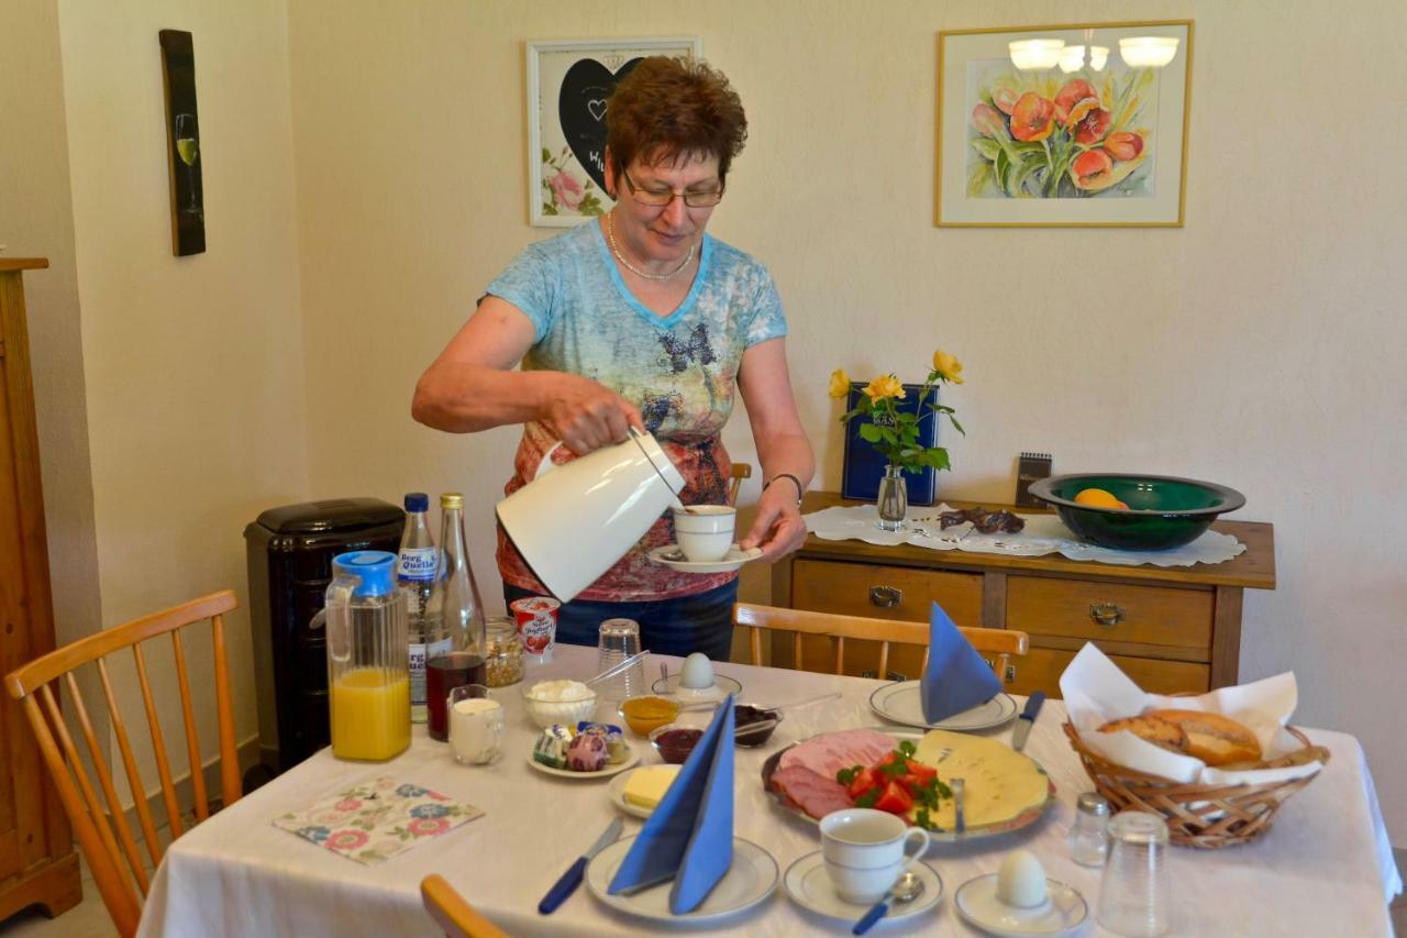
M 718 156 L 723 182 L 746 139 L 737 92 L 722 72 L 692 59 L 642 59 L 606 106 L 606 146 L 616 175 L 637 156 L 651 165 L 681 155 Z

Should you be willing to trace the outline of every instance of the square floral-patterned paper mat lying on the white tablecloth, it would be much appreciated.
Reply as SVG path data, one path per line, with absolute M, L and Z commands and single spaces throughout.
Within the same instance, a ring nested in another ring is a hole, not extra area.
M 391 777 L 373 779 L 274 818 L 274 827 L 359 863 L 384 863 L 416 844 L 483 815 L 439 792 Z

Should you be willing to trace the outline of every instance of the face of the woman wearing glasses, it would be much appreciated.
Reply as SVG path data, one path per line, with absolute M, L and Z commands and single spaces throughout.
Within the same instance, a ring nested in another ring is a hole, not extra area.
M 625 177 L 628 179 L 625 179 Z M 625 173 L 615 173 L 606 161 L 606 183 L 615 192 L 615 235 L 626 242 L 630 254 L 654 263 L 678 263 L 689 248 L 704 239 L 704 228 L 713 206 L 691 208 L 682 193 L 719 192 L 718 156 L 677 156 L 646 165 L 633 161 Z M 681 193 L 667 206 L 640 201 L 646 193 Z

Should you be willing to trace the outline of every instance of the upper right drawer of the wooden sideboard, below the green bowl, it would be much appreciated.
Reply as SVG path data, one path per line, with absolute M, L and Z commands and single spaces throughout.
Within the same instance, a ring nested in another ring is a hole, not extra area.
M 1204 649 L 1214 611 L 1210 590 L 1047 576 L 1006 582 L 1006 627 L 1031 635 Z

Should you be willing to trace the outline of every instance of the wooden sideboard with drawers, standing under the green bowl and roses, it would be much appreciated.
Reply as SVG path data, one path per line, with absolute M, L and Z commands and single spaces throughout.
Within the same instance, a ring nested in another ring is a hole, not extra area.
M 802 513 L 837 504 L 860 503 L 810 492 Z M 796 554 L 772 568 L 772 603 L 922 623 L 929 620 L 929 603 L 937 601 L 958 625 L 1024 630 L 1031 648 L 1006 675 L 1013 693 L 1040 689 L 1058 697 L 1059 675 L 1086 641 L 1110 655 L 1145 690 L 1200 692 L 1237 682 L 1242 590 L 1275 589 L 1272 525 L 1218 521 L 1213 530 L 1234 535 L 1247 551 L 1216 565 L 1116 566 L 1058 554 L 1014 558 L 810 535 Z M 829 641 L 808 642 L 802 665 L 825 670 Z M 851 649 L 846 642 L 846 654 L 851 673 L 878 665 L 878 645 Z M 777 644 L 772 656 L 778 663 L 794 663 L 789 642 Z M 920 666 L 922 649 L 891 652 L 891 672 L 916 677 Z

